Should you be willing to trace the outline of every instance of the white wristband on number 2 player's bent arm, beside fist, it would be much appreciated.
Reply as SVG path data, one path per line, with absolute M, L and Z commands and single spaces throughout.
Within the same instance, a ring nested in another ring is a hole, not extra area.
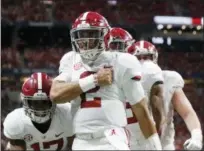
M 88 77 L 79 79 L 79 85 L 83 92 L 87 92 L 90 89 L 93 89 L 96 87 L 97 80 L 95 75 L 90 75 Z

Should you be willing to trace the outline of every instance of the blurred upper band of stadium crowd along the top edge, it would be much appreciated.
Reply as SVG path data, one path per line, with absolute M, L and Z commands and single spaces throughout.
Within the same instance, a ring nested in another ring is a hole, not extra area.
M 143 24 L 150 23 L 155 15 L 203 16 L 204 2 L 202 0 L 2 1 L 2 18 L 11 21 L 48 21 L 52 19 L 72 22 L 76 16 L 87 10 L 103 14 L 112 24 Z M 54 18 L 50 17 L 51 13 Z

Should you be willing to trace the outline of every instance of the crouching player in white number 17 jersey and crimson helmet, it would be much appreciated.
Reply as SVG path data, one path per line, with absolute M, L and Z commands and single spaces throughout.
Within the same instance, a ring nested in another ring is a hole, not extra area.
M 22 86 L 23 108 L 4 121 L 7 150 L 67 150 L 72 145 L 71 105 L 54 105 L 49 99 L 51 78 L 34 73 Z

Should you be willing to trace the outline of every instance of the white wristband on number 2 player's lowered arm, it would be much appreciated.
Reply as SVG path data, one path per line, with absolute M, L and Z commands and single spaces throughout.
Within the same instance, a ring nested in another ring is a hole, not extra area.
M 151 135 L 147 139 L 150 150 L 162 150 L 161 142 L 157 133 Z

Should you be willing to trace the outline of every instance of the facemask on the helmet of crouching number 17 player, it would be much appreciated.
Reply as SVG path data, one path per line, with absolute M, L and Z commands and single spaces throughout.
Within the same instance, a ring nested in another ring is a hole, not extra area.
M 41 95 L 42 93 L 40 93 Z M 55 112 L 56 105 L 44 96 L 23 96 L 25 114 L 34 122 L 42 124 L 50 120 Z

